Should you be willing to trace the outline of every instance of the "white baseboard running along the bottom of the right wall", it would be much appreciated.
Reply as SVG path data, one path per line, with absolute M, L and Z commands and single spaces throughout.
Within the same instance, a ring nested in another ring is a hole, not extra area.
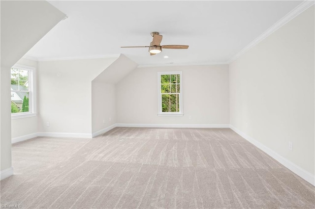
M 263 145 L 262 143 L 260 143 L 259 141 L 255 140 L 255 139 L 253 139 L 251 136 L 249 136 L 246 133 L 238 130 L 234 126 L 230 125 L 230 129 L 235 131 L 237 134 L 242 136 L 247 141 L 251 142 L 254 146 L 256 146 L 257 148 L 259 148 L 260 150 L 262 150 L 263 152 L 268 154 L 270 157 L 272 157 L 275 160 L 277 160 L 278 162 L 280 162 L 282 165 L 284 165 L 286 168 L 291 170 L 293 173 L 295 173 L 296 175 L 300 176 L 305 181 L 307 181 L 307 182 L 309 182 L 309 183 L 311 183 L 311 184 L 313 184 L 315 186 L 315 176 L 313 174 L 311 174 L 310 172 L 308 172 L 305 169 L 301 168 L 300 166 L 294 164 L 290 160 L 282 157 L 281 155 L 279 155 L 278 153 L 276 153 L 275 151 L 273 151 L 269 147 Z

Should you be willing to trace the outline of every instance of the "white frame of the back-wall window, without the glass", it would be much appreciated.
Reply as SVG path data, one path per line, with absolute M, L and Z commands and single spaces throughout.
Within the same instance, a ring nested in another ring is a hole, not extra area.
M 179 112 L 162 112 L 161 75 L 180 75 Z M 183 72 L 164 71 L 158 72 L 158 116 L 183 116 Z

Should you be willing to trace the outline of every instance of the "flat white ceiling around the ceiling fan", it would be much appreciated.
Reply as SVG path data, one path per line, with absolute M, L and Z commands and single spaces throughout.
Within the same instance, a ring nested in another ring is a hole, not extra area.
M 302 1 L 49 1 L 68 16 L 26 55 L 39 60 L 125 54 L 139 65 L 226 63 Z M 150 56 L 162 45 L 189 45 Z M 169 58 L 163 58 L 163 56 Z

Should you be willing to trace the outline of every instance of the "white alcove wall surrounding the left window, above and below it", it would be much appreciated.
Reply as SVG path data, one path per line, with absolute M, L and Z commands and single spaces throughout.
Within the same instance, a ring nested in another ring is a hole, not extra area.
M 34 72 L 35 73 L 35 83 L 34 84 L 36 85 L 37 84 L 37 71 L 38 71 L 37 62 L 22 58 L 16 64 L 25 65 L 25 66 L 35 68 L 35 72 Z M 35 95 L 35 98 L 37 99 L 37 94 Z M 36 104 L 38 105 L 38 101 L 36 101 Z M 37 132 L 37 121 L 38 121 L 37 117 L 38 116 L 36 115 L 35 117 L 19 118 L 19 119 L 11 120 L 12 139 L 36 133 Z

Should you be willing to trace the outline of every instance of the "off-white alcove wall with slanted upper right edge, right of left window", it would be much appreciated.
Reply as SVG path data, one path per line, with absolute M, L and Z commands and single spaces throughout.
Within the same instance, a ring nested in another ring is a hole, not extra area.
M 92 134 L 92 80 L 116 59 L 39 62 L 39 132 L 82 133 L 89 137 Z

